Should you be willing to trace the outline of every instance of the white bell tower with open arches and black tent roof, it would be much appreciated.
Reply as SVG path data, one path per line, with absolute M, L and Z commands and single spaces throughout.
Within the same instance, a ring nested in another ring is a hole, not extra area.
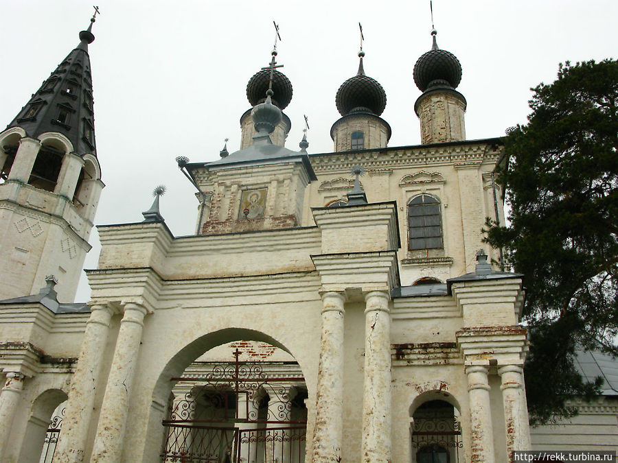
M 75 296 L 104 187 L 88 54 L 94 22 L 0 132 L 0 299 L 38 292 L 49 274 L 58 300 Z

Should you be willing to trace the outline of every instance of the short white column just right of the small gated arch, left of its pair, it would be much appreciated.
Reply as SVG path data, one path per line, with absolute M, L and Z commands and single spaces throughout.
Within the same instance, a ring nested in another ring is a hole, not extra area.
M 470 399 L 470 463 L 494 463 L 494 432 L 486 366 L 468 366 Z

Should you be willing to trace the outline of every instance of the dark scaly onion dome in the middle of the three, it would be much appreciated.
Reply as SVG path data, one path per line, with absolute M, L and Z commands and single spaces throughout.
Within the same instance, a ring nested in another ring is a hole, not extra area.
M 377 80 L 365 75 L 363 69 L 365 52 L 361 51 L 358 56 L 361 58 L 358 73 L 343 82 L 337 91 L 335 97 L 337 110 L 342 116 L 354 112 L 369 112 L 379 116 L 386 107 L 386 92 Z

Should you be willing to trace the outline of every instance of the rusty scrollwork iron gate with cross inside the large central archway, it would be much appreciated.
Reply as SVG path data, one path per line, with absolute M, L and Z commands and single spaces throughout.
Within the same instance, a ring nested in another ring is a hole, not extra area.
M 196 362 L 201 374 L 172 379 L 183 393 L 163 420 L 162 462 L 304 461 L 306 388 L 299 367 L 282 374 L 275 367 L 289 362 L 239 361 L 238 349 L 234 356 L 231 362 Z

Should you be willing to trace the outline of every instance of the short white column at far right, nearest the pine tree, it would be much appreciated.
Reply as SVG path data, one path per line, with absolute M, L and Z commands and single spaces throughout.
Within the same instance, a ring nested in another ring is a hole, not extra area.
M 523 414 L 525 390 L 523 389 L 523 370 L 509 365 L 498 369 L 502 378 L 502 401 L 506 430 L 507 456 L 514 450 L 530 450 L 530 428 L 527 416 Z

